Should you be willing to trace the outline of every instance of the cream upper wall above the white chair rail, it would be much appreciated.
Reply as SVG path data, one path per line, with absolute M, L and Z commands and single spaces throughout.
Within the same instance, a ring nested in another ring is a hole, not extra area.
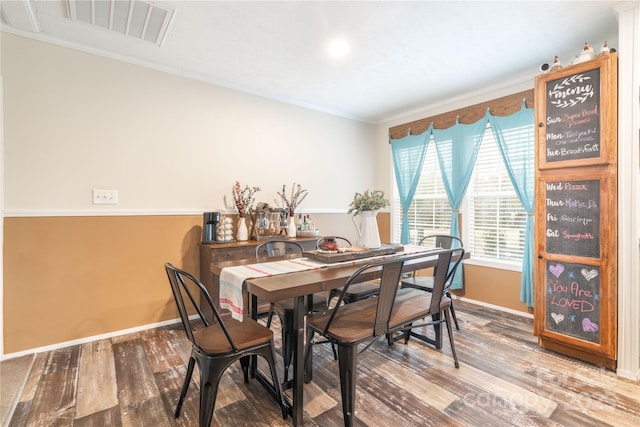
M 236 180 L 270 204 L 300 183 L 303 210 L 336 212 L 377 182 L 373 125 L 1 37 L 6 215 L 223 210 Z

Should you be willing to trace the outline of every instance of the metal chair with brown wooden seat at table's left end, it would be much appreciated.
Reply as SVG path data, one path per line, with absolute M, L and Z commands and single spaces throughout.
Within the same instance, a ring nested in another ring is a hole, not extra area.
M 182 325 L 192 345 L 191 356 L 187 365 L 187 375 L 174 417 L 178 418 L 180 416 L 180 409 L 189 389 L 193 368 L 196 363 L 200 371 L 199 425 L 200 427 L 208 427 L 213 418 L 220 378 L 225 370 L 233 362 L 239 360 L 244 373 L 244 381 L 248 382 L 249 358 L 252 355 L 257 355 L 262 356 L 269 364 L 276 402 L 280 405 L 283 418 L 286 419 L 287 409 L 280 387 L 273 332 L 246 317 L 242 322 L 231 318 L 223 321 L 220 312 L 211 299 L 211 295 L 200 280 L 170 263 L 165 264 L 165 270 L 169 277 L 178 313 L 182 319 Z M 198 296 L 200 297 L 199 300 Z M 213 320 L 204 315 L 200 307 L 201 304 L 207 304 L 214 314 Z M 196 320 L 189 318 L 190 313 L 197 313 L 199 321 L 204 326 L 194 325 Z

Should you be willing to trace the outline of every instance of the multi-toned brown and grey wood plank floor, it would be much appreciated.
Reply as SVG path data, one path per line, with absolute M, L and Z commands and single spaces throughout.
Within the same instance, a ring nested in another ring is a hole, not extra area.
M 446 338 L 442 352 L 418 340 L 393 346 L 380 340 L 360 354 L 358 425 L 640 424 L 640 383 L 539 348 L 532 320 L 460 301 L 456 309 L 460 369 L 453 366 Z M 196 426 L 195 381 L 181 417 L 172 416 L 189 351 L 176 324 L 25 356 L 33 359 L 26 381 L 2 390 L 14 392 L 17 404 L 0 419 L 9 426 Z M 315 346 L 314 354 L 305 425 L 340 426 L 337 362 L 328 345 Z M 212 425 L 290 424 L 260 384 L 245 384 L 238 364 L 229 368 Z

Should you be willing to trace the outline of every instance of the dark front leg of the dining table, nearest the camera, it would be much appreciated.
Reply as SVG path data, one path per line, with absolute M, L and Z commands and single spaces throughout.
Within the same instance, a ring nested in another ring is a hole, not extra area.
M 293 314 L 293 425 L 301 426 L 304 422 L 304 314 L 306 310 L 305 297 L 296 297 Z

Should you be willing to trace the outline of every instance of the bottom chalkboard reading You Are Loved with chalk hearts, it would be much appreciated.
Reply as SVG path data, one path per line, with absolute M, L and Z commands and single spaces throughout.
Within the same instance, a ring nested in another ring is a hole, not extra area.
M 600 267 L 547 261 L 547 329 L 600 343 Z

